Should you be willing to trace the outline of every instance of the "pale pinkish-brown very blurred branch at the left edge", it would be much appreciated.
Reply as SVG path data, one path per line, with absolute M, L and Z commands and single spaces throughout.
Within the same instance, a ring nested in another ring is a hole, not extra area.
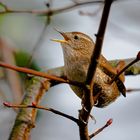
M 15 65 L 15 58 L 14 58 L 14 51 L 12 48 L 9 47 L 8 43 L 0 38 L 0 50 L 1 50 L 1 57 L 5 63 L 9 63 Z M 21 80 L 20 76 L 16 71 L 11 71 L 5 69 L 6 78 L 11 88 L 11 93 L 13 94 L 13 100 L 15 103 L 21 103 L 23 90 L 21 87 Z M 13 82 L 14 81 L 14 82 Z

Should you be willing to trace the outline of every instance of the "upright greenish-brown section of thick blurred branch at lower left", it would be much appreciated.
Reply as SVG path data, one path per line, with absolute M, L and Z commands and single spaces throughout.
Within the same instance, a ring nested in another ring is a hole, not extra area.
M 22 105 L 35 102 L 38 105 L 45 91 L 50 88 L 50 82 L 44 78 L 33 77 L 27 82 L 25 96 Z M 29 140 L 30 131 L 35 127 L 37 109 L 22 108 L 16 117 L 15 124 L 9 136 L 9 140 Z

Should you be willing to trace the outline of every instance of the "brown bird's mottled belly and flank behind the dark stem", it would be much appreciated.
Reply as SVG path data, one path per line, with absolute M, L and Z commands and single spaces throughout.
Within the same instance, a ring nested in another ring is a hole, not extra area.
M 80 66 L 76 66 L 74 69 L 69 68 L 66 69 L 66 76 L 69 80 L 85 82 L 87 71 L 84 70 Z M 116 83 L 108 84 L 110 77 L 106 75 L 101 69 L 97 67 L 94 77 L 94 92 L 93 95 L 100 93 L 98 98 L 97 107 L 105 107 L 109 105 L 111 102 L 115 101 L 117 97 L 120 95 L 118 87 Z M 70 86 L 72 90 L 76 93 L 76 95 L 82 98 L 83 94 L 86 94 L 82 87 L 78 86 Z

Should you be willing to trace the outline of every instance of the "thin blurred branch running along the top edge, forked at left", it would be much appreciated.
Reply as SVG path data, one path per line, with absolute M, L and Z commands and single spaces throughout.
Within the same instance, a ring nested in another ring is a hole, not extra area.
M 60 14 L 62 12 L 66 12 L 72 9 L 75 9 L 77 7 L 82 7 L 85 5 L 91 5 L 91 4 L 100 4 L 104 3 L 103 0 L 94 0 L 94 1 L 84 1 L 84 2 L 76 2 L 71 5 L 58 8 L 58 9 L 51 9 L 51 10 L 13 10 L 9 8 L 7 5 L 5 5 L 3 2 L 0 2 L 0 5 L 4 8 L 4 11 L 0 11 L 0 14 L 8 14 L 8 13 L 30 13 L 30 14 L 37 14 L 37 15 L 44 15 L 44 16 L 52 16 L 55 14 Z

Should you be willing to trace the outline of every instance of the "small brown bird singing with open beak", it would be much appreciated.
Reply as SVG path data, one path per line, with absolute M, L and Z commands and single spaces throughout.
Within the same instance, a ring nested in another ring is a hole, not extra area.
M 69 80 L 85 82 L 88 67 L 91 60 L 91 55 L 95 44 L 93 40 L 81 32 L 60 32 L 64 40 L 53 39 L 60 42 L 64 54 L 64 71 Z M 109 81 L 124 67 L 124 62 L 118 63 L 117 67 L 112 67 L 111 64 L 101 55 L 99 64 L 95 73 L 95 81 L 93 88 L 93 96 L 99 94 L 94 106 L 105 107 L 114 102 L 120 95 L 120 92 L 125 96 L 124 74 L 109 84 Z M 70 85 L 77 96 L 82 98 L 86 94 L 83 88 Z

